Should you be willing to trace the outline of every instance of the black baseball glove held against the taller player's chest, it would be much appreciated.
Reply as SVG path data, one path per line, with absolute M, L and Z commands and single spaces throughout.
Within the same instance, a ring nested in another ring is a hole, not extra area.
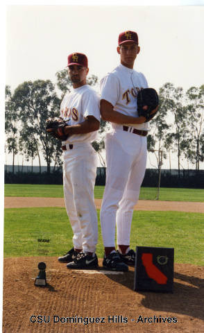
M 148 108 L 144 110 L 144 106 L 147 105 Z M 139 90 L 137 94 L 137 112 L 139 116 L 143 116 L 146 118 L 146 121 L 150 121 L 155 114 L 158 112 L 154 112 L 151 114 L 152 110 L 155 110 L 159 105 L 159 96 L 158 93 L 153 88 L 145 88 Z M 146 123 L 145 121 L 145 123 Z

